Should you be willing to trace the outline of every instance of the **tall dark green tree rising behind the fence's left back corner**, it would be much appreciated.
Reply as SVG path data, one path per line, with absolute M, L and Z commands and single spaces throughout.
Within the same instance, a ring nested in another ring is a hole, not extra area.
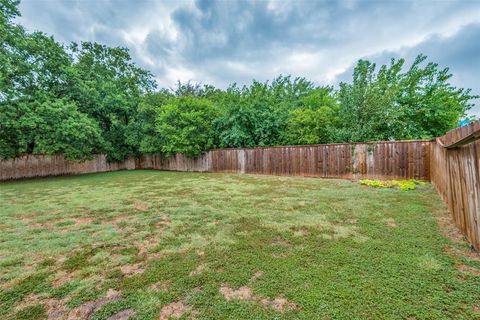
M 99 123 L 109 160 L 138 155 L 132 130 L 138 128 L 134 122 L 143 95 L 156 87 L 151 73 L 137 67 L 124 48 L 83 42 L 70 49 L 75 63 L 69 69 L 68 97 Z

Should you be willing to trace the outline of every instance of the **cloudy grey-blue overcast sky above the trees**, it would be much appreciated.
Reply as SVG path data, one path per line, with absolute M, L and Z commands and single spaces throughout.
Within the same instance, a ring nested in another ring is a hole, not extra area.
M 177 80 L 226 87 L 292 74 L 351 81 L 368 58 L 425 53 L 456 86 L 480 93 L 480 0 L 139 1 L 23 0 L 18 21 L 60 42 L 130 49 L 162 87 Z M 471 114 L 480 116 L 480 101 Z

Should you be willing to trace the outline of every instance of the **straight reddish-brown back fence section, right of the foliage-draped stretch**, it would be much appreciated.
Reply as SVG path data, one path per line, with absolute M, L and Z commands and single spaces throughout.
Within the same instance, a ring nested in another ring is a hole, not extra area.
M 209 152 L 209 171 L 323 178 L 430 179 L 430 141 L 328 144 Z

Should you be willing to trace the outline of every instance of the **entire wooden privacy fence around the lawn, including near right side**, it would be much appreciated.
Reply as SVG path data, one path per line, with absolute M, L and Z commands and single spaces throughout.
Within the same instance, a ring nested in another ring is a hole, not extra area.
M 142 156 L 82 163 L 62 156 L 26 155 L 0 161 L 0 181 L 53 175 L 158 169 L 324 178 L 431 180 L 453 219 L 480 250 L 480 121 L 432 141 L 389 141 L 251 149 L 216 149 L 189 159 Z

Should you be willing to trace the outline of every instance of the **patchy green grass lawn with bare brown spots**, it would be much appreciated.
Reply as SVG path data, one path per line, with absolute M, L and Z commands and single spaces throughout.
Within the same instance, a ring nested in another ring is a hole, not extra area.
M 0 319 L 480 318 L 480 258 L 429 184 L 145 170 L 0 192 Z

